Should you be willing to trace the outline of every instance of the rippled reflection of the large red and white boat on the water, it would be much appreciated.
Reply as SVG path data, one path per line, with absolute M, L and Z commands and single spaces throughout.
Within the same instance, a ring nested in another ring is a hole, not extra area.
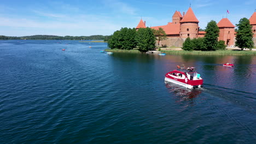
M 189 89 L 175 83 L 168 82 L 165 86 L 168 92 L 172 93 L 172 97 L 176 99 L 176 103 L 183 103 L 184 101 L 187 101 L 189 106 L 195 105 L 194 99 L 201 93 L 200 88 Z

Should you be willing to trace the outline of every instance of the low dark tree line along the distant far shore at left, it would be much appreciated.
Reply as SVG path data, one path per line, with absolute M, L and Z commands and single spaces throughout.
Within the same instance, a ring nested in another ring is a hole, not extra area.
M 91 35 L 91 36 L 69 36 L 65 37 L 57 36 L 57 35 L 31 35 L 24 37 L 8 37 L 4 35 L 0 35 L 0 39 L 40 39 L 40 40 L 104 40 L 107 41 L 109 35 Z

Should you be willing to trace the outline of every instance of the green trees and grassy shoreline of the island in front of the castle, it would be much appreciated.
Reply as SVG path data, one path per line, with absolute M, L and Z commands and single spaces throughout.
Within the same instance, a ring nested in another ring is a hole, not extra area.
M 109 36 L 108 47 L 106 51 L 112 52 L 131 52 L 139 51 L 146 52 L 149 50 L 158 49 L 167 54 L 185 54 L 185 55 L 256 55 L 256 51 L 243 51 L 243 49 L 252 50 L 252 29 L 249 25 L 249 20 L 243 18 L 236 25 L 236 42 L 235 46 L 241 48 L 241 51 L 226 50 L 224 40 L 218 40 L 219 27 L 216 21 L 208 22 L 205 32 L 205 37 L 185 39 L 181 51 L 177 50 L 160 50 L 160 41 L 166 39 L 165 31 L 162 28 L 121 28 Z M 157 44 L 156 44 L 157 43 Z M 162 46 L 164 47 L 164 46 Z M 121 50 L 121 51 L 120 51 Z

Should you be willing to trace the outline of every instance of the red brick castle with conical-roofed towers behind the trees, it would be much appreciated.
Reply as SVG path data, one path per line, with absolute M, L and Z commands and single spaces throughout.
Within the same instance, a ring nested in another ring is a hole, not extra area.
M 249 19 L 252 25 L 254 45 L 256 44 L 256 12 L 253 13 Z M 193 10 L 188 9 L 187 13 L 183 15 L 179 11 L 175 11 L 172 16 L 172 22 L 168 22 L 164 26 L 150 27 L 153 29 L 164 29 L 167 39 L 160 42 L 160 45 L 167 46 L 182 46 L 184 40 L 188 37 L 191 39 L 205 37 L 204 31 L 199 31 L 199 20 L 197 20 Z M 235 26 L 228 18 L 223 18 L 217 23 L 219 27 L 219 40 L 224 40 L 227 46 L 235 45 Z M 146 22 L 139 21 L 138 28 L 146 28 Z

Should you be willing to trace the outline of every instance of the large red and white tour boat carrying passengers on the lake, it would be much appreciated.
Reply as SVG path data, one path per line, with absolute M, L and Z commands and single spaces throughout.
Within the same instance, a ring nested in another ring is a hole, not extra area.
M 184 86 L 186 88 L 202 87 L 203 79 L 200 74 L 196 73 L 195 68 L 179 67 L 165 74 L 165 81 L 176 83 L 177 85 Z

